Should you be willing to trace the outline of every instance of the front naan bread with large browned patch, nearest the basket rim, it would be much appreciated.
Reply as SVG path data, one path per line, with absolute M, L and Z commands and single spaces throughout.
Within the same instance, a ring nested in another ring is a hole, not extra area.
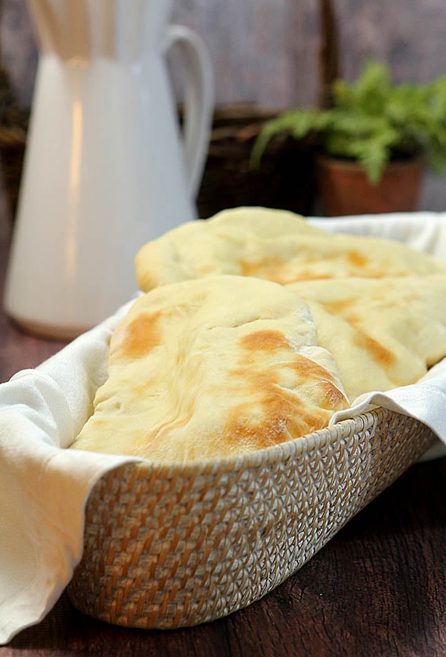
M 207 277 L 134 303 L 72 447 L 156 461 L 224 457 L 322 428 L 348 406 L 294 291 L 260 278 Z

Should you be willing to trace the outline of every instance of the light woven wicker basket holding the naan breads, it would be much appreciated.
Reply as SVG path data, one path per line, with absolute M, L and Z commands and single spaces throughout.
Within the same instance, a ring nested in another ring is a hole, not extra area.
M 130 627 L 226 616 L 303 566 L 433 440 L 378 408 L 241 457 L 120 466 L 86 505 L 71 600 Z

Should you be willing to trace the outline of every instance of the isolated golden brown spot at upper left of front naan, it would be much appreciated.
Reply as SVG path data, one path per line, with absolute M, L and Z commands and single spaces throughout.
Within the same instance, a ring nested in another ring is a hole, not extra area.
M 120 356 L 138 358 L 147 354 L 161 342 L 159 321 L 161 312 L 138 315 L 129 324 L 123 325 L 117 332 L 111 345 Z

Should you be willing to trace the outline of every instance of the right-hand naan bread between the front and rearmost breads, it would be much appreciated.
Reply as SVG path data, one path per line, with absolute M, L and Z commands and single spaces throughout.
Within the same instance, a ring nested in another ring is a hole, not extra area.
M 333 354 L 351 403 L 420 379 L 446 356 L 446 276 L 294 283 L 318 343 Z M 288 289 L 289 289 L 288 288 Z

